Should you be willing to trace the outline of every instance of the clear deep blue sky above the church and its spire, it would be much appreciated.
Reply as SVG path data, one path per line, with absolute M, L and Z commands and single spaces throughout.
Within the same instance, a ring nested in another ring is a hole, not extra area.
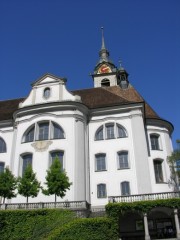
M 101 48 L 180 139 L 179 0 L 0 0 L 0 100 L 25 97 L 45 73 L 91 88 Z

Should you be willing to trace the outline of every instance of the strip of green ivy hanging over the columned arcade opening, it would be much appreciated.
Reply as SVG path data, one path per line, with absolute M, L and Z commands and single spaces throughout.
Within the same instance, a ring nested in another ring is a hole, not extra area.
M 173 199 L 158 199 L 152 201 L 139 201 L 132 203 L 109 203 L 106 205 L 106 212 L 109 217 L 118 218 L 121 214 L 128 211 L 139 211 L 148 213 L 156 207 L 179 208 L 180 198 Z

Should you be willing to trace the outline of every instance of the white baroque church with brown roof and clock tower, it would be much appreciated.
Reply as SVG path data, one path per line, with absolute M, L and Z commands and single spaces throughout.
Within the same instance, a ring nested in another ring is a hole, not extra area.
M 0 101 L 0 171 L 37 179 L 58 156 L 72 185 L 57 201 L 105 206 L 112 197 L 172 192 L 168 184 L 173 125 L 131 85 L 109 59 L 102 34 L 94 88 L 68 91 L 66 79 L 45 74 L 26 98 Z M 143 94 L 143 93 L 142 93 Z M 25 197 L 6 200 L 23 203 Z M 53 202 L 41 192 L 29 202 Z

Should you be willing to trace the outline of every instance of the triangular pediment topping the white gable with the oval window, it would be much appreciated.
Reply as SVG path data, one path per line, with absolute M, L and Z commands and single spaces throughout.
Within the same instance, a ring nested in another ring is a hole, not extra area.
M 37 79 L 35 82 L 33 82 L 31 84 L 31 86 L 34 87 L 34 86 L 39 86 L 39 85 L 43 85 L 43 84 L 52 84 L 52 83 L 65 84 L 66 81 L 67 81 L 66 78 L 61 78 L 61 77 L 52 75 L 50 73 L 46 73 L 42 77 Z

